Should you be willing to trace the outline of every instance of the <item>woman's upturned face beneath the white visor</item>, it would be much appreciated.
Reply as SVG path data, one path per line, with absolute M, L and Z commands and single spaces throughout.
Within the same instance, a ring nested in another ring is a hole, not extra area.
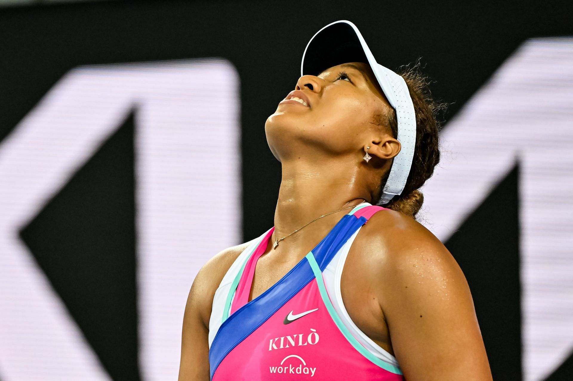
M 317 149 L 332 156 L 356 152 L 382 131 L 372 124 L 372 116 L 390 110 L 374 73 L 363 62 L 302 76 L 294 91 L 293 96 L 306 98 L 308 105 L 282 101 L 265 123 L 269 147 L 280 161 L 305 152 L 316 157 Z

